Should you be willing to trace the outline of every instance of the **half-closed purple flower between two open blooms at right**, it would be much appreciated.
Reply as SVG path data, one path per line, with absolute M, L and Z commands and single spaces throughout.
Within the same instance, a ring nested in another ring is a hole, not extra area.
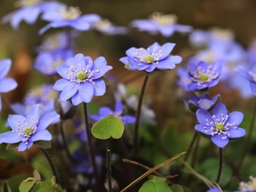
M 190 111 L 196 112 L 197 109 L 202 108 L 207 111 L 212 110 L 214 106 L 219 102 L 220 95 L 213 96 L 212 100 L 208 95 L 204 96 L 190 96 L 189 101 L 183 100 L 187 108 L 189 108 Z

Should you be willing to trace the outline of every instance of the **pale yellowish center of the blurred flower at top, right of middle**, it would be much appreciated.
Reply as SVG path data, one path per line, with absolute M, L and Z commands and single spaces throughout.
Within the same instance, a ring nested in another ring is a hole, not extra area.
M 176 15 L 163 15 L 159 12 L 155 12 L 149 17 L 149 20 L 153 20 L 155 23 L 160 24 L 161 26 L 170 26 L 177 22 Z

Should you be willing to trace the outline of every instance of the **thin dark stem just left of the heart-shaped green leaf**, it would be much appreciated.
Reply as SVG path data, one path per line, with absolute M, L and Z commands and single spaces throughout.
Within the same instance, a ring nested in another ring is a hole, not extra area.
M 86 134 L 87 134 L 87 141 L 88 141 L 89 151 L 90 151 L 90 160 L 91 160 L 92 167 L 94 170 L 94 176 L 96 177 L 96 188 L 97 188 L 97 191 L 100 192 L 100 191 L 102 191 L 102 187 L 101 187 L 102 183 L 101 183 L 101 178 L 99 177 L 97 166 L 96 166 L 96 158 L 95 158 L 94 148 L 93 148 L 93 144 L 92 144 L 92 140 L 91 140 L 91 133 L 90 133 L 90 127 L 89 127 L 89 121 L 88 121 L 87 103 L 86 102 L 84 102 L 84 121 L 85 121 L 85 130 L 86 130 Z

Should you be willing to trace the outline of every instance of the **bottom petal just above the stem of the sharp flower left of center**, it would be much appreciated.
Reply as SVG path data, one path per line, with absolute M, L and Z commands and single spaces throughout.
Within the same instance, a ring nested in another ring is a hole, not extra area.
M 83 102 L 90 102 L 92 96 L 94 96 L 94 88 L 90 82 L 85 81 L 83 84 L 80 84 L 79 96 Z

